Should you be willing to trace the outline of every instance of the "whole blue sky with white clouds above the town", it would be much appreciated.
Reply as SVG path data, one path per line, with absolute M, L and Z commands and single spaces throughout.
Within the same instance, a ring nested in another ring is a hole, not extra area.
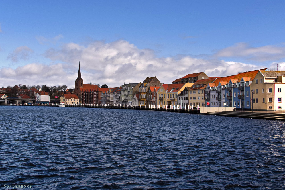
M 0 1 L 0 87 L 285 70 L 285 1 Z

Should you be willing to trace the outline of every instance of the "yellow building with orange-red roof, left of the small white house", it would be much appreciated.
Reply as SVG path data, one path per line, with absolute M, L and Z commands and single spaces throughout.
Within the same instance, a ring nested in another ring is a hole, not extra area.
M 184 90 L 185 87 L 190 87 L 194 83 L 184 83 L 184 84 L 162 84 L 157 90 L 157 105 L 167 105 L 176 106 L 177 95 Z

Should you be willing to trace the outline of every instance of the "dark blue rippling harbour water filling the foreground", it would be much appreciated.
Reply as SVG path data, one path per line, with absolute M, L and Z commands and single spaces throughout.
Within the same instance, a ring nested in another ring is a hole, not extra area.
M 285 189 L 281 121 L 35 106 L 0 114 L 0 189 Z

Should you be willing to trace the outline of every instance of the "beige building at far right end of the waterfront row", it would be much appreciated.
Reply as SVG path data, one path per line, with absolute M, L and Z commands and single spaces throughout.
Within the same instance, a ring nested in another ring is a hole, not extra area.
M 258 71 L 250 89 L 253 110 L 285 110 L 285 71 Z

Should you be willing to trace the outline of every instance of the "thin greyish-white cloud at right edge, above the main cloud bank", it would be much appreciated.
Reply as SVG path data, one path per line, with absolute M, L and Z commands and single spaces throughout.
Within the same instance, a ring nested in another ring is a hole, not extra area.
M 216 57 L 239 57 L 247 60 L 255 61 L 272 61 L 285 58 L 284 46 L 261 46 L 251 47 L 247 43 L 237 43 L 234 46 L 230 46 L 219 50 Z

